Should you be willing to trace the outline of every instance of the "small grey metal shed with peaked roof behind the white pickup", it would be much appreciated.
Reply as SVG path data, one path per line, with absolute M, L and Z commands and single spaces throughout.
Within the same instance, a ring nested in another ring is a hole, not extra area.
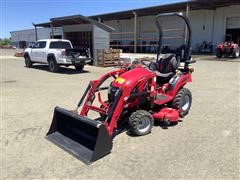
M 36 30 L 38 27 L 52 29 L 53 37 L 54 28 L 61 27 L 62 37 L 70 40 L 74 48 L 90 48 L 93 65 L 97 63 L 97 49 L 109 48 L 110 32 L 114 31 L 114 28 L 82 15 L 51 18 L 50 22 L 34 26 Z

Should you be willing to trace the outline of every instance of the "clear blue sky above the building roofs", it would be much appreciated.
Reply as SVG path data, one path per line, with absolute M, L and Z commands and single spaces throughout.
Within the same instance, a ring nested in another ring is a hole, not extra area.
M 82 14 L 91 16 L 135 8 L 170 4 L 182 0 L 0 0 L 0 38 L 11 31 L 32 29 L 32 23 Z

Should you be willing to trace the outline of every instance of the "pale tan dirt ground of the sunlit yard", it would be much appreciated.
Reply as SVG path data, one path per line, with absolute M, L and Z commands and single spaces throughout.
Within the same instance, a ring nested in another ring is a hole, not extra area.
M 3 179 L 238 179 L 240 59 L 197 56 L 190 114 L 176 126 L 115 137 L 111 154 L 87 166 L 47 141 L 56 105 L 73 109 L 88 81 L 112 68 L 50 73 L 1 57 Z M 205 59 L 205 60 L 204 60 Z

